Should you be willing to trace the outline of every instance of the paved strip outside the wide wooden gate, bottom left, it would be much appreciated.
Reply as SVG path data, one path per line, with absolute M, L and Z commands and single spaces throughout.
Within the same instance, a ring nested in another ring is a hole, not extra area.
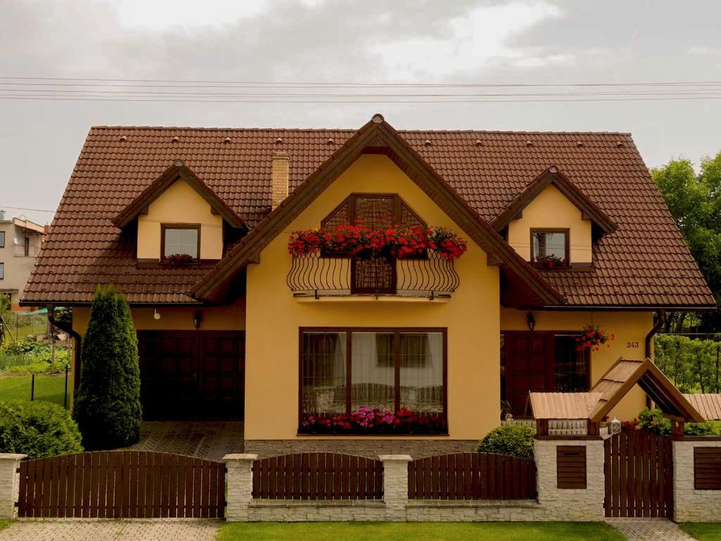
M 19 520 L 0 541 L 214 541 L 218 520 Z

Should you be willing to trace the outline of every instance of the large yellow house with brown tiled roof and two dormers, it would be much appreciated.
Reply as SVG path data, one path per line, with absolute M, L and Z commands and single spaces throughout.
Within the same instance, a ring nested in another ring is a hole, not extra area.
M 354 220 L 443 226 L 468 249 L 289 254 L 291 232 Z M 534 261 L 550 253 L 555 268 Z M 396 131 L 381 115 L 358 131 L 92 128 L 23 302 L 76 307 L 82 335 L 99 283 L 131 303 L 146 417 L 241 418 L 263 454 L 470 449 L 502 400 L 521 415 L 529 391 L 588 391 L 619 357 L 653 356 L 655 312 L 715 304 L 629 134 Z M 586 325 L 615 340 L 577 351 Z M 612 414 L 645 403 L 636 387 Z M 436 425 L 308 434 L 311 415 L 362 406 Z

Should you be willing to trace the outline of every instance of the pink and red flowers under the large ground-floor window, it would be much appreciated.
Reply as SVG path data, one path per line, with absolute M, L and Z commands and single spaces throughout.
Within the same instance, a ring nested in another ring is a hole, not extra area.
M 438 434 L 447 426 L 442 415 L 420 415 L 408 408 L 394 413 L 363 406 L 350 415 L 306 414 L 298 430 L 306 434 Z

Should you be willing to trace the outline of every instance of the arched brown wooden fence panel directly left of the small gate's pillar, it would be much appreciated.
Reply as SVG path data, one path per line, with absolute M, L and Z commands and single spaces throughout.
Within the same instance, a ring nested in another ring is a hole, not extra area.
M 408 463 L 408 498 L 536 498 L 536 462 L 493 453 L 441 454 Z

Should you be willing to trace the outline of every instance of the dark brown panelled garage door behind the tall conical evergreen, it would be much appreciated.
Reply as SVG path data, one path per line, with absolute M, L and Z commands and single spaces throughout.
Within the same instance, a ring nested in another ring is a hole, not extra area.
M 242 419 L 244 333 L 141 331 L 138 352 L 146 419 Z

